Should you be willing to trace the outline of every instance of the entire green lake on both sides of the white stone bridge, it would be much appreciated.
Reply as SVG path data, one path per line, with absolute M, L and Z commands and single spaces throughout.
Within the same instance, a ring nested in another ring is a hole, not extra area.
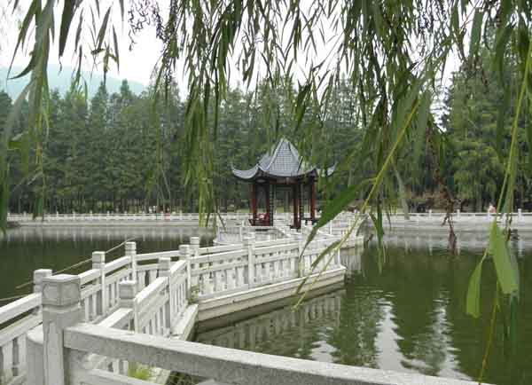
M 58 271 L 126 239 L 136 238 L 137 253 L 145 253 L 176 249 L 197 235 L 203 245 L 212 240 L 200 229 L 177 227 L 11 230 L 0 240 L 0 296 L 27 292 L 29 287 L 14 287 L 30 280 L 35 269 Z M 484 379 L 497 385 L 532 383 L 532 242 L 521 238 L 512 244 L 520 263 L 519 342 L 516 351 L 505 350 L 499 318 Z M 317 295 L 295 311 L 291 300 L 245 319 L 200 325 L 196 340 L 286 357 L 474 379 L 495 290 L 490 262 L 483 271 L 480 320 L 465 315 L 465 292 L 485 241 L 482 235 L 460 237 L 460 253 L 453 256 L 446 251 L 445 234 L 390 234 L 382 263 L 372 244 L 343 253 L 348 265 L 343 287 Z M 123 248 L 109 260 L 122 254 Z

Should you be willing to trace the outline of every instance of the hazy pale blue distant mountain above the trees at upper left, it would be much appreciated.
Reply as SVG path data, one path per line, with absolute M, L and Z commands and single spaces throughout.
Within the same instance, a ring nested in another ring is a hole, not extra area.
M 20 92 L 26 86 L 29 77 L 24 76 L 20 79 L 8 80 L 7 79 L 7 67 L 0 67 L 0 90 L 5 90 L 9 96 L 14 100 L 20 94 Z M 11 75 L 17 75 L 22 68 L 14 67 Z M 48 82 L 50 83 L 50 89 L 58 89 L 61 95 L 64 95 L 67 90 L 70 89 L 70 83 L 72 79 L 74 69 L 72 67 L 63 67 L 59 72 L 59 66 L 51 64 L 48 66 Z M 98 86 L 104 81 L 104 75 L 93 73 L 90 76 L 89 72 L 82 72 L 82 77 L 87 81 L 87 90 L 89 91 L 89 97 L 94 95 L 98 90 Z M 106 86 L 109 94 L 118 92 L 121 86 L 121 79 L 107 76 Z M 136 94 L 145 90 L 145 85 L 138 82 L 129 81 L 129 88 Z

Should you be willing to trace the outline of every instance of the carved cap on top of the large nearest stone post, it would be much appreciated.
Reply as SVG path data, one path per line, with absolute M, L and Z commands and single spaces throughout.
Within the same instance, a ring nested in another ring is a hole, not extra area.
M 81 279 L 77 275 L 58 274 L 43 279 L 43 305 L 69 306 L 82 299 Z

